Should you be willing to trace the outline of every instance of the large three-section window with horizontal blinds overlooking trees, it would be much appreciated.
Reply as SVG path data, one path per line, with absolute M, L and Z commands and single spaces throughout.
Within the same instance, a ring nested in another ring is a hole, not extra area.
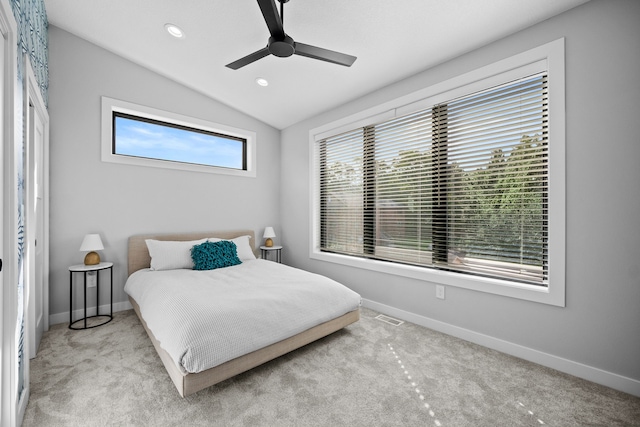
M 527 62 L 314 135 L 316 252 L 548 293 L 550 147 L 564 145 L 550 137 L 549 68 Z

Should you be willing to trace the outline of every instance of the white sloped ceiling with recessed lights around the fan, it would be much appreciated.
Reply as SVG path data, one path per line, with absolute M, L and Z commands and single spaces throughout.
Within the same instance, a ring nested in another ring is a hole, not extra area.
M 268 56 L 255 0 L 45 0 L 49 23 L 278 129 L 474 50 L 588 0 L 291 0 L 294 40 L 357 56 L 343 67 Z M 279 7 L 280 3 L 276 3 Z M 166 23 L 181 27 L 171 37 Z M 255 83 L 264 77 L 269 86 Z

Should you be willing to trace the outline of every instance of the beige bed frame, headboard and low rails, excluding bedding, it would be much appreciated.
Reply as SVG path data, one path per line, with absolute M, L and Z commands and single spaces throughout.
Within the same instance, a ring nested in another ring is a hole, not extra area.
M 251 247 L 255 248 L 255 235 L 253 230 L 239 230 L 239 231 L 223 231 L 223 232 L 208 232 L 208 233 L 182 233 L 182 234 L 146 234 L 131 236 L 129 238 L 129 256 L 128 256 L 128 275 L 135 273 L 136 271 L 149 268 L 151 263 L 151 257 L 149 256 L 149 250 L 147 249 L 146 239 L 154 240 L 172 240 L 172 241 L 189 241 L 199 240 L 207 237 L 217 237 L 220 239 L 232 239 L 239 236 L 251 237 Z M 207 369 L 206 371 L 198 372 L 196 374 L 183 372 L 171 359 L 169 353 L 167 353 L 160 343 L 149 330 L 147 322 L 140 314 L 140 307 L 138 303 L 131 297 L 129 297 L 131 305 L 136 314 L 140 318 L 140 322 L 147 331 L 153 346 L 156 348 L 162 363 L 164 364 L 171 380 L 178 389 L 180 396 L 185 397 L 193 394 L 197 391 L 205 389 L 209 386 L 217 384 L 249 369 L 255 368 L 263 363 L 273 360 L 282 356 L 292 350 L 305 346 L 313 341 L 316 341 L 322 337 L 332 334 L 345 326 L 358 321 L 360 318 L 360 311 L 354 310 L 343 316 L 329 320 L 311 329 L 308 329 L 302 333 L 284 339 L 275 344 L 256 350 L 252 353 L 240 356 L 236 359 L 225 362 L 221 365 Z

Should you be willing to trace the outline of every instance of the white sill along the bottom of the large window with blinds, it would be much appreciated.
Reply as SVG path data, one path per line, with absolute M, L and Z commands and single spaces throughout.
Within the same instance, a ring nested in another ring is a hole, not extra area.
M 437 285 L 453 286 L 559 307 L 564 307 L 565 305 L 564 293 L 553 292 L 553 287 L 551 286 L 527 285 L 524 283 L 510 282 L 508 280 L 470 276 L 450 271 L 440 271 L 425 267 L 320 252 L 318 250 L 312 250 L 310 258 L 394 276 L 422 280 Z M 564 291 L 564 288 L 562 289 Z

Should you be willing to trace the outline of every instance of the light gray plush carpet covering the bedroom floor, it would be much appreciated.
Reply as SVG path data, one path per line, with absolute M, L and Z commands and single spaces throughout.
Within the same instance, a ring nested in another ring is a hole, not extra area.
M 377 314 L 185 399 L 133 311 L 56 325 L 23 426 L 640 426 L 640 398 Z

